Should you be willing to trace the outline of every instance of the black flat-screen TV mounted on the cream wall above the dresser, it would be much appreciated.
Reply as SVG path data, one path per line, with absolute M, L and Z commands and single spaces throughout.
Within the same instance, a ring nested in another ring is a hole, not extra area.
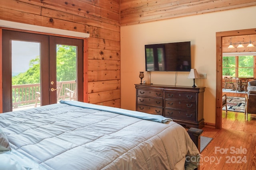
M 146 71 L 191 69 L 190 41 L 145 45 Z

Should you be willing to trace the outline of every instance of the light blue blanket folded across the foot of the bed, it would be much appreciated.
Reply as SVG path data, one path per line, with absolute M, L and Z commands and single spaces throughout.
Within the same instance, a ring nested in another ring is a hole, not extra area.
M 82 108 L 96 109 L 96 110 L 100 110 L 100 111 L 109 111 L 112 113 L 118 113 L 120 115 L 126 115 L 126 116 L 130 116 L 130 117 L 136 117 L 139 119 L 156 121 L 156 122 L 160 122 L 160 123 L 166 123 L 167 121 L 172 121 L 172 119 L 164 117 L 162 115 L 152 115 L 152 114 L 143 113 L 140 111 L 132 111 L 132 110 L 120 109 L 120 108 L 116 108 L 116 107 L 100 106 L 100 105 L 89 104 L 89 103 L 84 103 L 84 102 L 64 101 L 64 100 L 61 100 L 60 103 L 68 104 L 71 106 L 82 107 Z

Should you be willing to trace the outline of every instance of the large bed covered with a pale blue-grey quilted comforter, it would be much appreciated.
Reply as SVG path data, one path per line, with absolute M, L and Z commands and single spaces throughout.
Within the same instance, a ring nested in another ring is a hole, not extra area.
M 200 159 L 169 118 L 76 101 L 0 114 L 0 149 L 1 170 L 190 170 Z

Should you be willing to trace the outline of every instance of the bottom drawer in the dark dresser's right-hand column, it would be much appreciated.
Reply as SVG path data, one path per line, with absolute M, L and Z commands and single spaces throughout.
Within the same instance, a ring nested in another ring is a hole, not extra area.
M 165 117 L 173 119 L 182 119 L 188 121 L 196 121 L 196 113 L 192 111 L 165 109 Z

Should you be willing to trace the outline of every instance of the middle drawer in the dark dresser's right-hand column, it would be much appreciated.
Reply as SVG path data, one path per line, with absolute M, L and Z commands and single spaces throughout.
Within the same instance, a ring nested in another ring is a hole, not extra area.
M 183 109 L 187 111 L 196 111 L 196 102 L 186 100 L 165 100 L 166 108 Z

